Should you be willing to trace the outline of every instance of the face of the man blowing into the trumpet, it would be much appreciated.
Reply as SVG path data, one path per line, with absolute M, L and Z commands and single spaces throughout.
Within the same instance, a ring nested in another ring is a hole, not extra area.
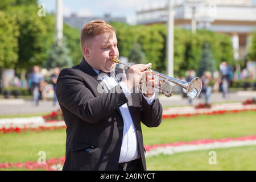
M 110 33 L 95 36 L 91 40 L 88 51 L 88 55 L 85 53 L 85 60 L 88 61 L 91 67 L 104 72 L 110 72 L 115 69 L 116 63 L 111 60 L 112 57 L 119 56 L 115 33 L 113 33 L 112 38 L 110 38 Z

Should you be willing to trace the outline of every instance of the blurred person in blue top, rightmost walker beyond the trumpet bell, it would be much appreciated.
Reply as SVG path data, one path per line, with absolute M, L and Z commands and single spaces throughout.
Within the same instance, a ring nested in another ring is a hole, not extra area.
M 222 94 L 223 94 L 223 97 L 225 98 L 226 95 L 228 94 L 228 89 L 229 89 L 229 83 L 230 83 L 229 74 L 232 71 L 228 63 L 226 63 L 225 61 L 220 64 L 220 71 L 222 74 L 222 77 L 221 77 Z

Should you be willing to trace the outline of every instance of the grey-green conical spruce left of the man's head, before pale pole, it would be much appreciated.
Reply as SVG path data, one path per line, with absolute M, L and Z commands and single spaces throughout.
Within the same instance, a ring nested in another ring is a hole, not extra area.
M 64 40 L 61 45 L 53 44 L 51 51 L 49 51 L 49 58 L 45 64 L 46 68 L 59 67 L 60 69 L 72 67 L 72 59 L 69 56 L 69 50 L 65 46 Z

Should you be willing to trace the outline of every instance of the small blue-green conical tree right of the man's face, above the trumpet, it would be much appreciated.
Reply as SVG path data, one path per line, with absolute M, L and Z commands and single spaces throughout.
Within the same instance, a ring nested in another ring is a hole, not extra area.
M 129 61 L 132 61 L 135 64 L 146 64 L 146 55 L 141 49 L 141 45 L 138 43 L 134 43 L 133 48 L 128 56 Z

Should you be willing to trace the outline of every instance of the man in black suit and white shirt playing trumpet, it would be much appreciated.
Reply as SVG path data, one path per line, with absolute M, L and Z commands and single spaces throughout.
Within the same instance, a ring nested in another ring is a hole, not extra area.
M 81 47 L 81 63 L 63 69 L 57 80 L 67 125 L 63 170 L 146 170 L 141 122 L 159 126 L 163 110 L 154 90 L 142 94 L 133 89 L 143 76 L 155 84 L 148 74 L 151 64 L 133 65 L 125 79 L 118 78 L 115 30 L 100 20 L 84 25 Z

